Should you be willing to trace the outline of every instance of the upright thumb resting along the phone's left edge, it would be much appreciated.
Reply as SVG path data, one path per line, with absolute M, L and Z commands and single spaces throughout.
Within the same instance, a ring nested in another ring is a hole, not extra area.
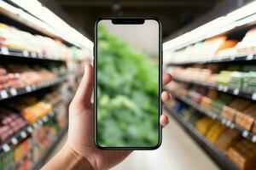
M 84 76 L 79 83 L 79 88 L 73 98 L 73 103 L 76 105 L 84 105 L 91 107 L 91 95 L 93 91 L 93 68 L 91 65 L 84 65 Z

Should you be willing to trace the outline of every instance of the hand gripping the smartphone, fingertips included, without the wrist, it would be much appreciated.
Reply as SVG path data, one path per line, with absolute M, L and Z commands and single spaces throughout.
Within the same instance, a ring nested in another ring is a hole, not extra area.
M 69 106 L 67 144 L 76 154 L 84 156 L 94 169 L 108 169 L 124 160 L 131 153 L 131 150 L 99 150 L 96 148 L 94 144 L 93 104 L 90 101 L 93 78 L 92 66 L 85 65 L 84 77 Z M 171 81 L 171 75 L 164 74 L 163 85 Z M 161 98 L 166 103 L 170 99 L 170 94 L 163 92 Z M 160 116 L 160 124 L 163 127 L 168 124 L 166 115 Z

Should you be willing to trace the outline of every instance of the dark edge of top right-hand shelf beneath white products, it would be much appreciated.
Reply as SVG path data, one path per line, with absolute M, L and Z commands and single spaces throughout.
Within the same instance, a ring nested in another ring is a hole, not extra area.
M 214 58 L 214 57 L 212 57 Z M 236 63 L 239 62 L 255 62 L 256 61 L 256 54 L 243 54 L 243 55 L 234 55 L 234 56 L 227 56 L 221 59 L 208 59 L 208 60 L 201 60 L 201 61 L 189 61 L 189 62 L 177 62 L 177 63 L 166 63 L 166 65 L 196 65 L 196 64 L 210 64 L 210 63 Z

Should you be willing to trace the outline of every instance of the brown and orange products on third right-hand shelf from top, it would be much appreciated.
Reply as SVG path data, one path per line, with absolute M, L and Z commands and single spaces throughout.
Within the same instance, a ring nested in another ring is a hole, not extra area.
M 172 82 L 167 86 L 171 93 L 184 96 L 210 110 L 217 116 L 235 122 L 238 127 L 255 133 L 256 107 L 255 102 L 249 99 L 234 98 L 230 94 L 219 93 L 216 90 L 203 87 L 189 87 L 183 83 Z M 207 121 L 204 121 L 207 122 Z M 206 130 L 201 130 L 205 132 Z

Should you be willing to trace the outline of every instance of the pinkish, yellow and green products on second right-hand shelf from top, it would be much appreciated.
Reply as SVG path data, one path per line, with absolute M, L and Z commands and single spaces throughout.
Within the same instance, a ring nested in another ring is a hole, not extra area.
M 252 66 L 252 65 L 251 65 Z M 255 66 L 255 65 L 254 65 Z M 227 71 L 219 71 L 221 66 L 206 65 L 201 67 L 172 66 L 168 71 L 174 78 L 202 85 L 223 85 L 232 89 L 240 89 L 247 93 L 256 92 L 256 71 L 247 71 L 247 66 L 231 65 Z M 230 70 L 230 71 L 229 71 Z

